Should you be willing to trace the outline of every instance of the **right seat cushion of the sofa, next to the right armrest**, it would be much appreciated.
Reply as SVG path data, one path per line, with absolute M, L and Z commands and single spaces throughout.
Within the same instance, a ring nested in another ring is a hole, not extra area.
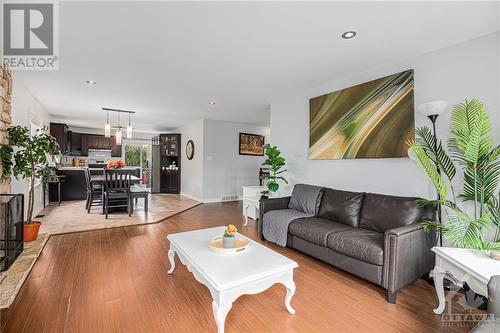
M 384 234 L 351 228 L 342 232 L 330 233 L 328 248 L 364 262 L 382 266 L 384 264 Z

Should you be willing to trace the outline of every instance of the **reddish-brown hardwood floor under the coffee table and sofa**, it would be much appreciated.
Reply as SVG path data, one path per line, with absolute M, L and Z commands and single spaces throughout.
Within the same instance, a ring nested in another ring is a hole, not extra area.
M 211 297 L 185 266 L 167 275 L 170 233 L 233 223 L 243 227 L 241 203 L 205 204 L 162 223 L 52 236 L 11 308 L 4 332 L 215 332 Z M 290 315 L 285 288 L 240 297 L 226 332 L 468 332 L 444 327 L 432 312 L 434 289 L 419 280 L 398 304 L 369 282 L 298 251 L 269 247 L 299 263 Z M 177 260 L 177 259 L 176 259 Z M 467 311 L 454 301 L 453 312 Z M 459 323 L 461 324 L 461 323 Z

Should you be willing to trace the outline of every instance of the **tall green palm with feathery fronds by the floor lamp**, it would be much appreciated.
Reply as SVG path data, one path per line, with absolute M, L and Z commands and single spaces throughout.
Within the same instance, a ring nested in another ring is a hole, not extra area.
M 493 147 L 486 106 L 478 99 L 466 99 L 453 107 L 449 153 L 429 128 L 418 128 L 416 135 L 415 141 L 408 142 L 410 154 L 439 195 L 438 200 L 420 200 L 420 203 L 441 205 L 447 212 L 446 222 L 424 221 L 424 228 L 437 230 L 458 247 L 500 249 L 500 146 Z M 452 183 L 456 166 L 463 173 L 464 184 L 458 196 Z M 458 200 L 472 204 L 471 216 L 459 207 Z M 487 241 L 484 233 L 493 226 L 496 226 L 494 239 Z

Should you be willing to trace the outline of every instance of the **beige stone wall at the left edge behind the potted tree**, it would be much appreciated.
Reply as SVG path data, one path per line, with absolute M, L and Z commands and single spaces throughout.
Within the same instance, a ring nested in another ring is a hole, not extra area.
M 0 145 L 8 142 L 7 128 L 12 123 L 12 75 L 0 64 Z M 0 165 L 0 175 L 2 166 Z M 10 179 L 0 179 L 0 193 L 10 192 Z

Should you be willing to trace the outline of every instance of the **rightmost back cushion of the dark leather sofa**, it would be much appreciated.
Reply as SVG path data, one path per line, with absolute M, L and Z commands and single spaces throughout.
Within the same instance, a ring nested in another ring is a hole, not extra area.
M 402 227 L 422 218 L 423 207 L 416 198 L 365 193 L 359 227 L 378 232 Z

